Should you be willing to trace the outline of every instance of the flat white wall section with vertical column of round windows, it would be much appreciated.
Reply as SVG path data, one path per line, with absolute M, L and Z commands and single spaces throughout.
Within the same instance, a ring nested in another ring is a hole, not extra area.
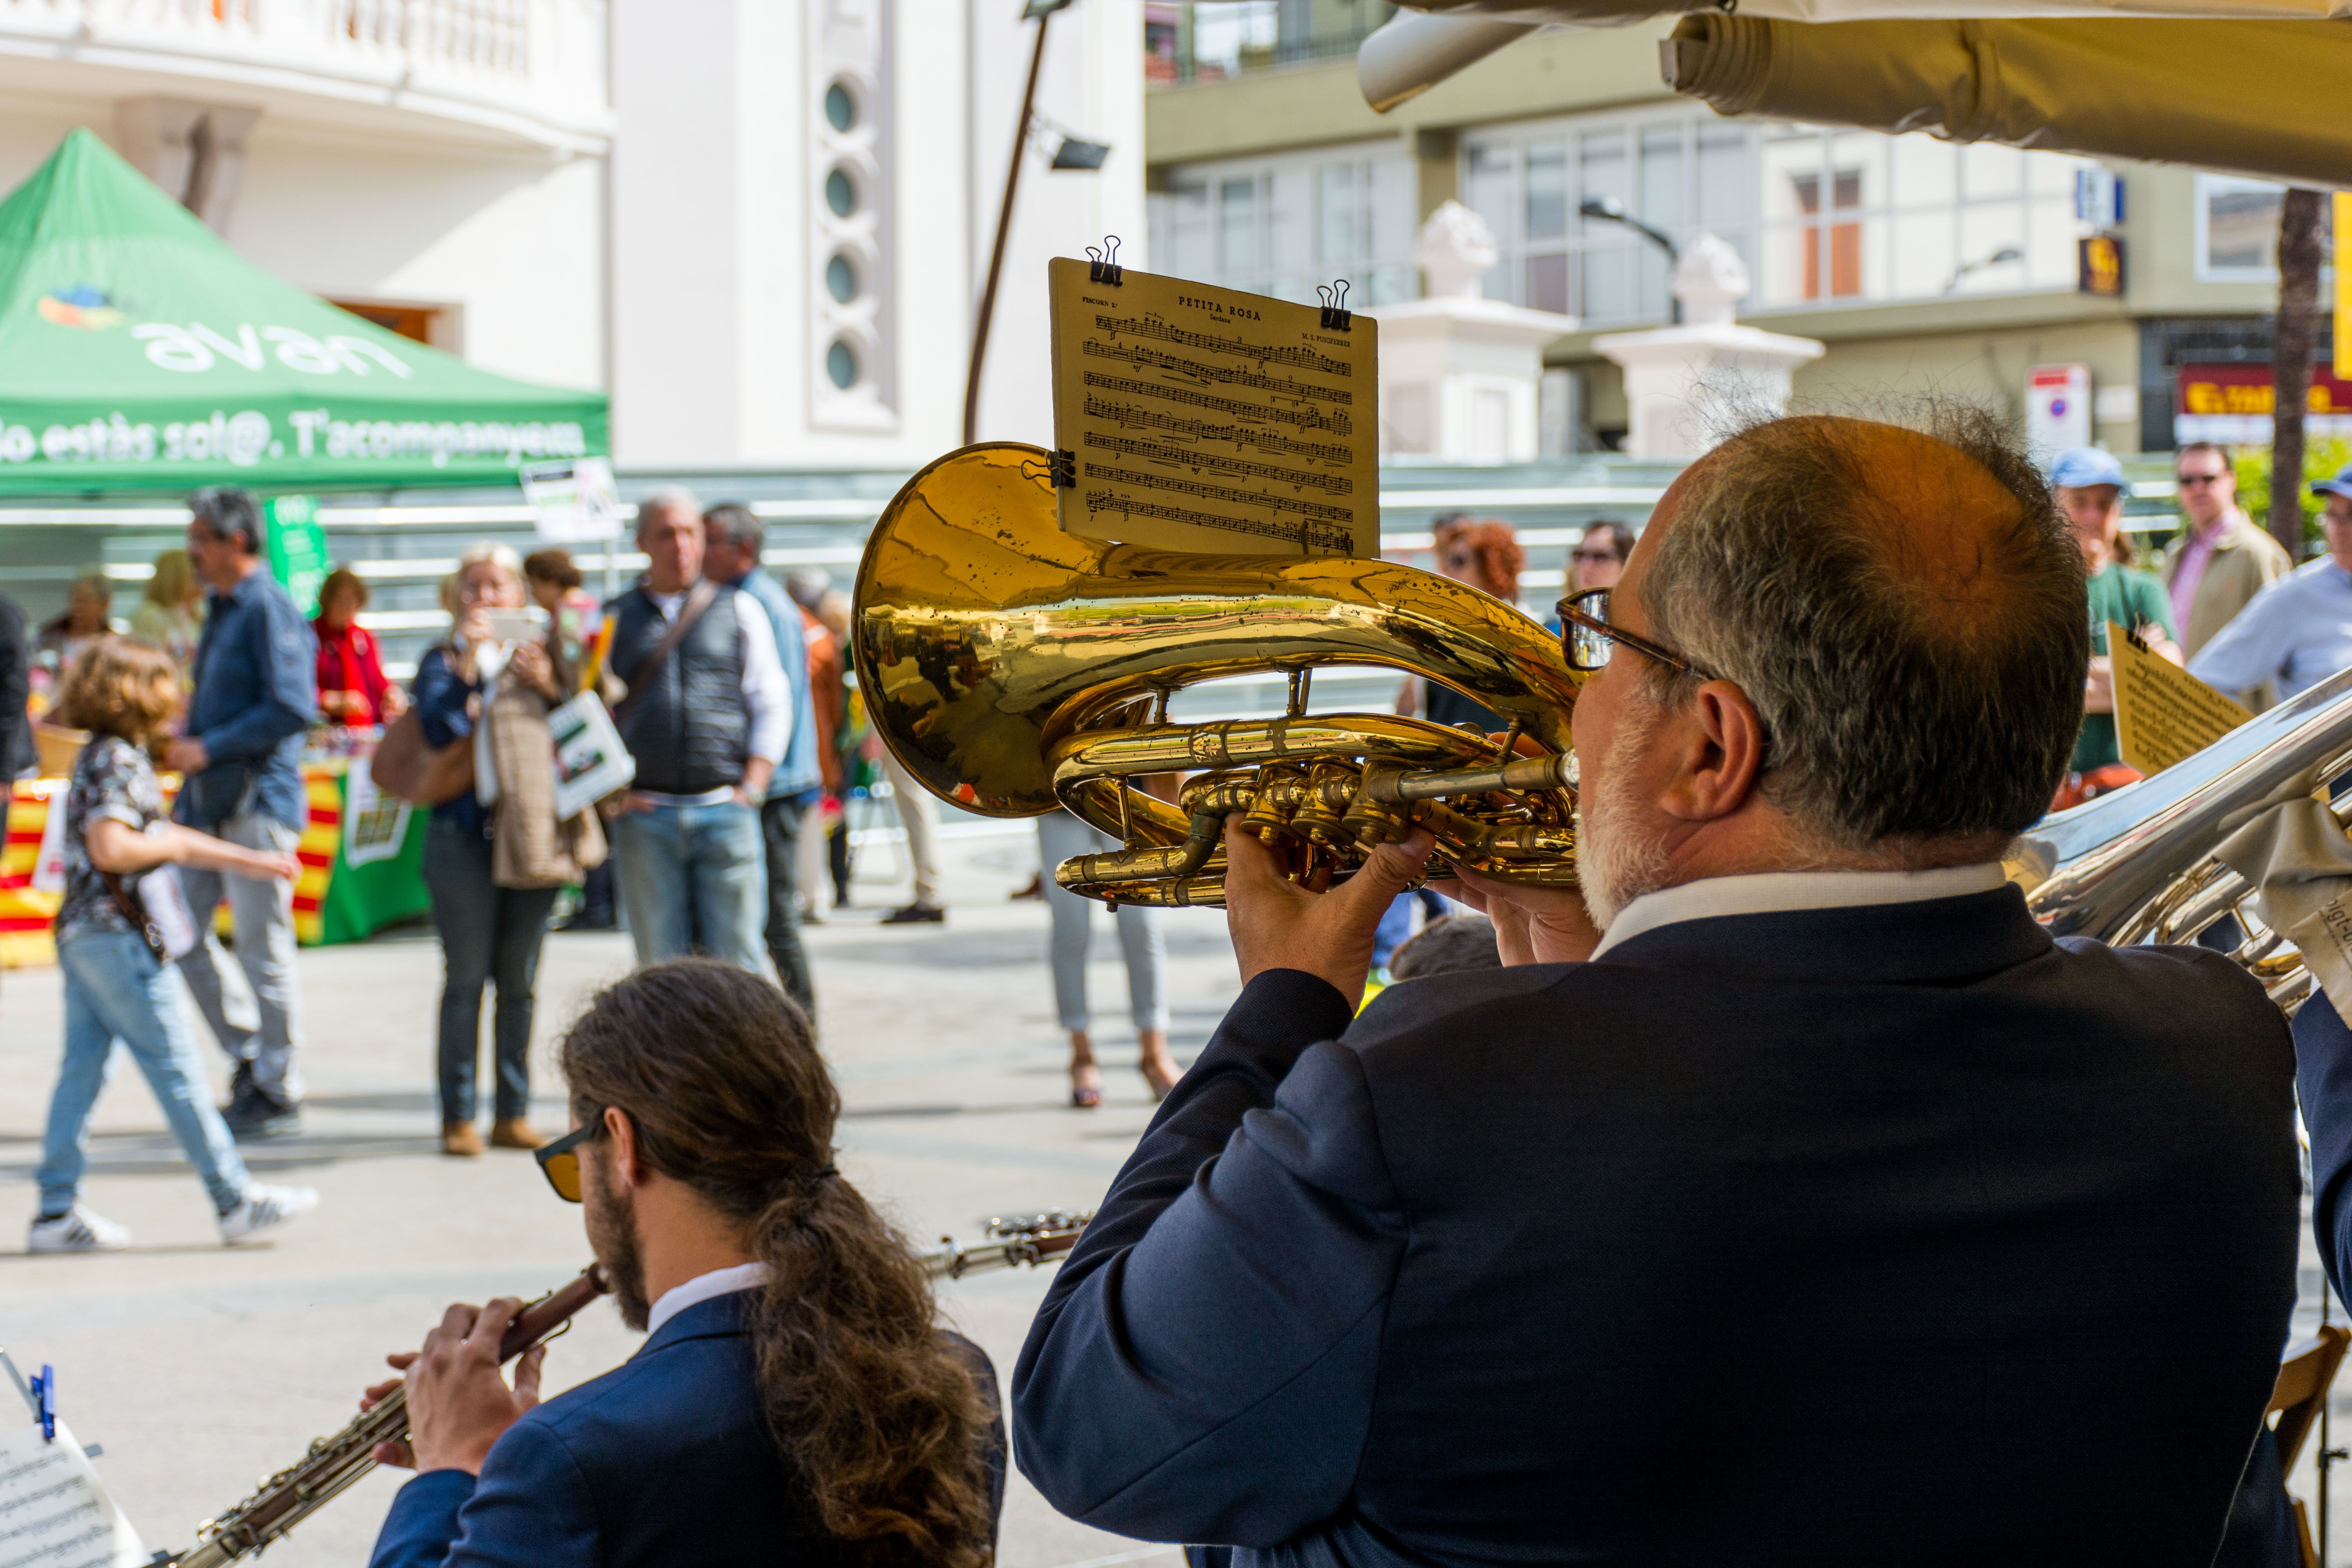
M 1007 0 L 619 0 L 623 465 L 920 465 L 962 444 L 1035 21 Z M 1051 444 L 1044 263 L 1143 244 L 1143 19 L 1047 21 L 981 440 Z M 1063 136 L 1101 169 L 1051 169 Z

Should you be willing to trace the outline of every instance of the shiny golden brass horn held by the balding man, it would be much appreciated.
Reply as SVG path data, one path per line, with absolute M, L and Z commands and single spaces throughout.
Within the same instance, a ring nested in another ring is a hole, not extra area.
M 983 816 L 1068 806 L 1120 842 L 1058 867 L 1089 898 L 1223 903 L 1232 811 L 1317 889 L 1416 825 L 1442 865 L 1576 882 L 1569 710 L 1583 677 L 1555 635 L 1399 562 L 1063 534 L 1037 447 L 964 447 L 908 480 L 866 541 L 851 654 L 875 731 L 927 790 Z M 1310 715 L 1322 665 L 1418 675 L 1510 731 Z M 1289 677 L 1279 719 L 1169 722 L 1176 691 L 1254 672 Z M 1169 771 L 1192 773 L 1174 806 L 1134 783 Z

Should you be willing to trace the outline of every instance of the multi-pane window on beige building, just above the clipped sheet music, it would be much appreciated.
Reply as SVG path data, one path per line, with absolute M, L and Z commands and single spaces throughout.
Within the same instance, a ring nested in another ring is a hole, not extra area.
M 1421 294 L 1414 165 L 1390 143 L 1279 162 L 1174 169 L 1150 197 L 1150 254 L 1171 277 L 1315 303 L 1345 277 L 1350 303 Z

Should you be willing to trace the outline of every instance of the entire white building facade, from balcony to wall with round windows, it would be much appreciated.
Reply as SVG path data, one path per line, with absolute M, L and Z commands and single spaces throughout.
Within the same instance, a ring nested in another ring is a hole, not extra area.
M 1047 28 L 978 418 L 1030 442 L 1044 261 L 1148 263 L 1143 12 Z M 0 188 L 89 127 L 287 282 L 612 390 L 623 468 L 920 465 L 962 442 L 1035 35 L 1011 0 L 0 0 Z M 1110 153 L 1051 169 L 1065 136 Z

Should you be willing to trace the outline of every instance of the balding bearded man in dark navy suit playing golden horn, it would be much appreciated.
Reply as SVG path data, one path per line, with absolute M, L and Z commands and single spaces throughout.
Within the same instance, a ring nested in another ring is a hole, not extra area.
M 2206 1563 L 2277 1373 L 2286 1025 L 1999 858 L 2082 559 L 1990 421 L 1757 425 L 1564 607 L 1583 898 L 1350 1018 L 1425 839 L 1228 832 L 1244 990 L 1014 1380 L 1063 1512 L 1240 1563 Z

